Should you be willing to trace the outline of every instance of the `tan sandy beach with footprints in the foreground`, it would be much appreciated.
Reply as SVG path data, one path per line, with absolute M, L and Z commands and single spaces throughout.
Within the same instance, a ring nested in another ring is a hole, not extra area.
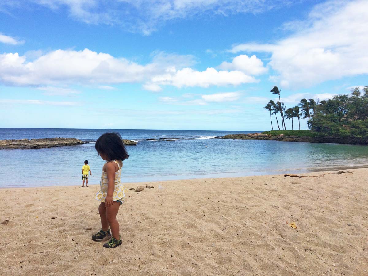
M 0 275 L 368 275 L 368 169 L 351 171 L 127 184 L 155 188 L 128 192 L 116 249 L 91 240 L 98 185 L 4 188 Z

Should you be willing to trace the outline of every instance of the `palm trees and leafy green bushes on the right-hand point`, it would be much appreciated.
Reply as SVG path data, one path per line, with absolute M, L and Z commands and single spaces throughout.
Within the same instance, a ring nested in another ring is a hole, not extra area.
M 330 136 L 368 141 L 368 86 L 364 86 L 362 91 L 356 87 L 351 90 L 351 94 L 336 95 L 327 100 L 301 99 L 297 106 L 289 109 L 281 102 L 281 89 L 275 86 L 270 92 L 278 95 L 279 101 L 275 103 L 270 100 L 264 107 L 270 112 L 272 131 L 265 131 L 262 134 L 296 137 Z M 279 113 L 280 120 L 277 119 Z M 272 115 L 275 115 L 278 131 L 273 130 Z M 299 130 L 293 130 L 293 118 L 298 119 Z M 291 120 L 292 130 L 286 130 L 285 119 Z M 308 130 L 300 130 L 300 119 L 308 120 Z

